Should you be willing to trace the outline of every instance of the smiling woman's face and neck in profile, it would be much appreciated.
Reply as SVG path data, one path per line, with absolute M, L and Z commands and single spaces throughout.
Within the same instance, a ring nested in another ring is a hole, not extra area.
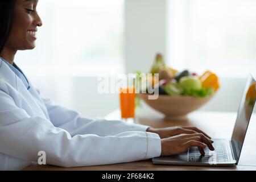
M 0 55 L 10 64 L 13 64 L 17 50 L 35 48 L 37 27 L 42 26 L 42 21 L 36 12 L 37 3 L 37 0 L 16 0 L 11 1 L 9 8 L 6 7 L 6 10 L 9 10 L 9 13 L 13 15 L 10 16 L 9 22 L 3 23 L 1 26 L 3 27 L 1 29 L 6 26 L 7 31 L 3 30 L 3 32 L 7 32 L 9 37 L 3 40 L 5 46 L 0 49 Z M 4 5 L 7 6 L 8 3 Z M 1 7 L 5 8 L 4 6 Z

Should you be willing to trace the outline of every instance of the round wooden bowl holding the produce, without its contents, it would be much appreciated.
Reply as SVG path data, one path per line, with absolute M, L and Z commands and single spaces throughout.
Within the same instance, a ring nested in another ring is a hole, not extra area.
M 150 94 L 138 94 L 139 97 L 151 106 L 153 109 L 166 115 L 167 119 L 183 120 L 187 119 L 187 114 L 199 109 L 206 104 L 214 94 L 204 97 L 196 98 L 192 96 L 168 96 L 159 95 L 156 100 L 148 100 Z

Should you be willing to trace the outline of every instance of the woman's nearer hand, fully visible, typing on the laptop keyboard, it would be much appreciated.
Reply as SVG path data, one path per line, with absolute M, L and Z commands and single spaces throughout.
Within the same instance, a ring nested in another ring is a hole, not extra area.
M 197 134 L 180 134 L 174 137 L 161 139 L 161 155 L 175 155 L 185 152 L 190 147 L 198 147 L 201 155 L 204 155 L 204 148 L 208 146 L 214 150 L 213 141 L 201 133 Z

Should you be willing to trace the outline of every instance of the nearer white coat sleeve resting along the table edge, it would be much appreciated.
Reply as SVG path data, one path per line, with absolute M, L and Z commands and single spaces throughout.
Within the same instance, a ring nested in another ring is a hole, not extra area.
M 72 137 L 45 118 L 30 117 L 1 87 L 0 102 L 0 152 L 14 158 L 37 162 L 38 152 L 45 151 L 47 164 L 77 167 L 133 162 L 161 152 L 159 135 L 154 133 L 126 131 L 108 137 Z

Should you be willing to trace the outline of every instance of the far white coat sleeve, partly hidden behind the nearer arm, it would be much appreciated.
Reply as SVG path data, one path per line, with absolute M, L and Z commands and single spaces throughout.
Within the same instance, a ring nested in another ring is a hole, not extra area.
M 76 111 L 53 103 L 49 98 L 44 97 L 38 89 L 36 90 L 47 107 L 49 118 L 53 125 L 67 130 L 72 136 L 77 134 L 96 134 L 105 137 L 125 131 L 146 131 L 149 127 L 124 121 L 83 118 Z

